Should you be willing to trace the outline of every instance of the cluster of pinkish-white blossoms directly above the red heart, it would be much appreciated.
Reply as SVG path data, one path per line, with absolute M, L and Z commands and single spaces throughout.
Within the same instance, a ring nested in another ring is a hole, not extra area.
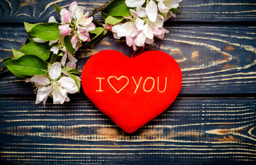
M 168 30 L 163 28 L 164 17 L 157 14 L 155 22 L 150 21 L 146 14 L 146 8 L 137 7 L 136 11 L 130 9 L 132 15 L 124 17 L 130 21 L 126 23 L 118 23 L 112 27 L 115 39 L 120 39 L 126 36 L 126 44 L 132 46 L 133 50 L 138 47 L 143 47 L 145 43 L 152 44 L 154 36 L 160 39 L 164 38 L 164 34 Z

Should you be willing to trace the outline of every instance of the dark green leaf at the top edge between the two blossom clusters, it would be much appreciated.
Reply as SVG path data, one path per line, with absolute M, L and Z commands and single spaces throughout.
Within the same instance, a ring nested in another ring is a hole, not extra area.
M 130 15 L 130 10 L 125 1 L 126 0 L 112 0 L 103 10 L 101 10 L 102 17 L 106 19 L 108 16 Z

